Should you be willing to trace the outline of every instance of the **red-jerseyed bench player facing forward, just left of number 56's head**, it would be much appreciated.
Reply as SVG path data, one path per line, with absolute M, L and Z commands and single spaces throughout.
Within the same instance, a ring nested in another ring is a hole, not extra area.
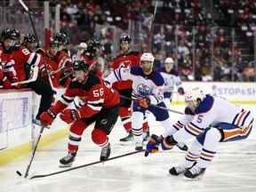
M 49 75 L 52 79 L 52 85 L 54 87 L 67 87 L 70 83 L 70 78 L 67 74 L 71 73 L 72 62 L 64 52 L 60 52 L 60 42 L 51 39 L 50 48 L 44 54 L 44 60 L 46 68 L 49 71 Z M 44 70 L 44 66 L 42 66 Z M 64 76 L 67 76 L 66 78 Z

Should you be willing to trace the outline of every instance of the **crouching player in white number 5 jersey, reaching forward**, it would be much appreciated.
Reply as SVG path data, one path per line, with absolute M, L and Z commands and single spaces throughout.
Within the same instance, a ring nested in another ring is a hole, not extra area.
M 160 137 L 152 135 L 145 156 L 158 150 L 158 145 L 172 148 L 177 142 L 194 139 L 185 163 L 170 169 L 172 175 L 184 173 L 190 179 L 200 178 L 216 154 L 219 142 L 243 140 L 252 131 L 250 110 L 228 100 L 204 94 L 199 88 L 185 93 L 185 116 Z M 179 129 L 172 134 L 172 129 Z

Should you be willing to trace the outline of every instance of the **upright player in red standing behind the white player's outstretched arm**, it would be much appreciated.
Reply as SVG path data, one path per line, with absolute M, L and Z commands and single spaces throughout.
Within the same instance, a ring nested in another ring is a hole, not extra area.
M 140 65 L 140 52 L 130 52 L 130 47 L 132 43 L 132 38 L 130 36 L 121 36 L 120 38 L 120 49 L 121 53 L 118 55 L 112 64 L 112 68 L 115 70 L 120 66 L 139 66 Z M 119 108 L 119 116 L 121 117 L 122 124 L 126 132 L 128 132 L 128 136 L 120 139 L 120 141 L 129 141 L 133 139 L 132 135 L 132 122 L 131 122 L 131 105 L 132 105 L 132 80 L 120 81 L 113 84 L 113 88 L 115 88 L 120 95 L 128 98 L 120 98 L 120 108 Z M 143 132 L 148 132 L 148 121 L 146 117 L 144 117 L 143 123 Z M 149 136 L 149 133 L 148 135 Z

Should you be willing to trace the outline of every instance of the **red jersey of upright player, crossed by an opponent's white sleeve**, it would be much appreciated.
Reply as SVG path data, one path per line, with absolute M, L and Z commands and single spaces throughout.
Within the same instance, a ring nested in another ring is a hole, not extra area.
M 121 54 L 112 61 L 112 68 L 115 70 L 122 65 L 124 65 L 124 67 L 139 66 L 140 56 L 140 52 L 129 52 L 126 55 Z M 132 89 L 132 80 L 116 82 L 115 84 L 113 84 L 113 87 L 117 90 Z

